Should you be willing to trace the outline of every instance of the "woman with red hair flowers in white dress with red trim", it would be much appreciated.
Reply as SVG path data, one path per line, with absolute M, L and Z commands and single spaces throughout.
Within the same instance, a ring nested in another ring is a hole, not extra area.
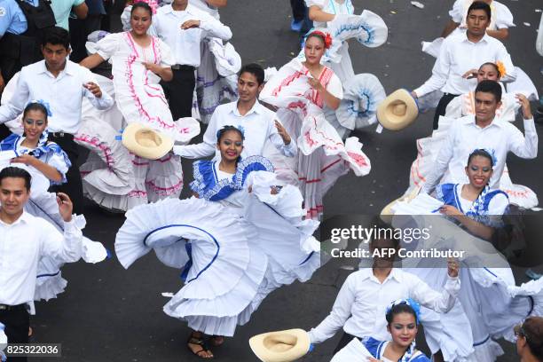
M 271 158 L 280 177 L 299 185 L 310 218 L 319 218 L 322 199 L 338 177 L 349 169 L 363 176 L 371 168 L 358 138 L 348 138 L 343 144 L 324 115 L 325 107 L 337 109 L 342 98 L 339 78 L 320 64 L 331 42 L 330 35 L 310 33 L 304 48 L 306 60 L 296 58 L 281 67 L 260 94 L 264 102 L 279 107 L 278 118 L 302 151 L 297 159 L 280 157 L 271 148 L 264 154 Z

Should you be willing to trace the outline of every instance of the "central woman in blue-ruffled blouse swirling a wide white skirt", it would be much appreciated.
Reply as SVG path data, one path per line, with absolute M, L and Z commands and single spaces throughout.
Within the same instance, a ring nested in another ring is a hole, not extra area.
M 185 287 L 164 311 L 188 322 L 188 347 L 201 358 L 213 357 L 203 334 L 222 344 L 273 289 L 311 278 L 320 265 L 311 236 L 318 223 L 302 220 L 297 189 L 277 186 L 263 157 L 240 160 L 240 130 L 225 127 L 217 139 L 221 161 L 194 162 L 196 197 L 130 210 L 115 240 L 124 267 L 153 248 L 162 263 L 183 268 Z

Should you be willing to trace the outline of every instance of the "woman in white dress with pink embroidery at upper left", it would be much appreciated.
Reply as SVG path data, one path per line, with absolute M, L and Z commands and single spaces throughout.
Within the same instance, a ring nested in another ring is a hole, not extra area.
M 159 82 L 172 78 L 174 59 L 168 45 L 147 35 L 152 9 L 146 3 L 132 6 L 131 30 L 107 35 L 97 44 L 97 53 L 83 59 L 83 67 L 97 67 L 113 59 L 115 105 L 124 122 L 139 122 L 160 130 L 177 142 L 188 143 L 200 132 L 192 118 L 174 121 Z M 129 193 L 118 193 L 107 182 L 85 184 L 85 193 L 106 209 L 127 210 L 138 204 L 164 198 L 177 198 L 183 187 L 183 170 L 179 158 L 169 153 L 152 161 L 130 154 L 134 186 Z

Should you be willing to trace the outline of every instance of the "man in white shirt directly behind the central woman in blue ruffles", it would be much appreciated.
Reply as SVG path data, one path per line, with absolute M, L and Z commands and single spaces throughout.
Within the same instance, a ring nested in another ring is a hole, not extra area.
M 217 106 L 211 116 L 203 142 L 197 145 L 174 146 L 173 152 L 181 157 L 197 159 L 216 154 L 216 132 L 224 126 L 243 130 L 242 157 L 262 155 L 264 144 L 270 141 L 280 153 L 294 157 L 298 148 L 275 114 L 258 102 L 258 93 L 264 87 L 264 69 L 257 64 L 241 67 L 238 77 L 240 98 Z M 219 154 L 216 154 L 219 157 Z

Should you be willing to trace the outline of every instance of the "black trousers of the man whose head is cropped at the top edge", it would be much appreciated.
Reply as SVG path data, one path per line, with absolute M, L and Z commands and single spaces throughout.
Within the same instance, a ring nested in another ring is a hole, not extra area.
M 172 69 L 171 82 L 161 82 L 166 98 L 168 98 L 169 110 L 174 121 L 182 117 L 190 117 L 193 114 L 193 93 L 196 86 L 194 67 L 181 66 Z

